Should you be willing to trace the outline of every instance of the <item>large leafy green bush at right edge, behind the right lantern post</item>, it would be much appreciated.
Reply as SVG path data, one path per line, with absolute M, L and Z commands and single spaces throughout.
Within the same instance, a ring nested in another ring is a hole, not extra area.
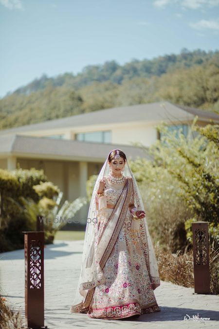
M 155 189 L 152 194 L 154 193 L 156 196 L 156 202 L 150 213 L 157 212 L 156 204 L 158 206 L 163 204 L 162 207 L 166 205 L 171 210 L 178 200 L 181 212 L 182 206 L 184 209 L 183 222 L 187 237 L 191 234 L 192 221 L 208 221 L 210 241 L 214 241 L 214 248 L 217 249 L 219 246 L 219 233 L 217 232 L 219 223 L 219 125 L 209 124 L 204 128 L 199 128 L 195 125 L 197 118 L 194 119 L 187 136 L 184 136 L 182 131 L 170 132 L 165 124 L 158 127 L 162 137 L 147 151 L 153 160 L 151 166 L 147 164 L 144 167 L 145 171 L 148 171 L 149 168 L 149 173 L 142 174 L 142 177 L 146 186 L 151 184 L 151 181 L 155 181 Z M 195 131 L 199 134 L 194 137 Z M 160 172 L 163 176 L 159 174 Z M 168 201 L 171 186 L 173 186 L 173 194 Z M 157 193 L 161 188 L 162 195 Z M 172 221 L 173 225 L 181 214 L 179 213 L 177 216 L 176 213 L 176 217 Z M 191 241 L 188 239 L 187 243 L 190 244 Z

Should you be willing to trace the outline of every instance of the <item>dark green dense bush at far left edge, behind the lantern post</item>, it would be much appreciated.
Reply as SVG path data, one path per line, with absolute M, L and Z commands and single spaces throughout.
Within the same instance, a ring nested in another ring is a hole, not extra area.
M 22 204 L 22 198 L 39 196 L 35 184 L 46 181 L 43 171 L 0 169 L 0 252 L 23 248 L 22 231 L 35 231 L 36 218 L 30 219 Z

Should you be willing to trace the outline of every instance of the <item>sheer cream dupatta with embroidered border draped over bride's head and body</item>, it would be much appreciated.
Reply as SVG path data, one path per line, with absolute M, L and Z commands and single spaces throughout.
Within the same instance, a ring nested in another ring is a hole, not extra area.
M 110 151 L 110 153 L 112 151 Z M 109 220 L 103 232 L 101 233 L 101 238 L 98 239 L 96 192 L 98 190 L 100 180 L 110 173 L 110 166 L 108 164 L 109 155 L 107 156 L 100 174 L 97 177 L 91 197 L 84 238 L 81 271 L 73 305 L 70 308 L 71 312 L 86 312 L 91 303 L 95 287 L 105 283 L 106 279 L 102 270 L 123 226 L 132 193 L 134 195 L 135 207 L 137 210 L 144 211 L 144 204 L 141 194 L 135 177 L 128 166 L 127 160 L 124 169 L 124 176 L 128 178 L 127 183 L 124 186 L 112 213 L 110 214 Z M 137 226 L 137 230 L 140 233 L 141 241 L 139 242 L 141 243 L 144 251 L 146 266 L 152 288 L 156 289 L 160 285 L 160 279 L 153 245 L 147 228 L 146 218 L 140 219 L 138 222 L 133 221 L 133 223 L 135 229 Z

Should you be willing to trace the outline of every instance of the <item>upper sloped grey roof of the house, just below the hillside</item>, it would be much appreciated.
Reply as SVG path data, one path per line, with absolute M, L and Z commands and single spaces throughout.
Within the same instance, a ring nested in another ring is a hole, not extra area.
M 207 121 L 210 119 L 219 121 L 219 115 L 215 113 L 163 101 L 148 104 L 114 107 L 76 116 L 47 120 L 44 122 L 20 126 L 17 128 L 1 130 L 0 135 L 58 128 L 73 128 L 78 126 L 98 125 L 106 123 L 124 123 L 133 121 L 159 122 L 163 120 L 189 121 L 192 120 L 195 115 L 198 115 L 200 119 L 206 119 Z

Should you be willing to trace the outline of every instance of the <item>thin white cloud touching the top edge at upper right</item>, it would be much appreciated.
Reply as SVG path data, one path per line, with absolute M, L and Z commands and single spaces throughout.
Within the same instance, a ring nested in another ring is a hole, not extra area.
M 153 5 L 158 8 L 164 8 L 168 4 L 177 3 L 183 8 L 198 9 L 202 7 L 216 7 L 219 0 L 154 0 Z

